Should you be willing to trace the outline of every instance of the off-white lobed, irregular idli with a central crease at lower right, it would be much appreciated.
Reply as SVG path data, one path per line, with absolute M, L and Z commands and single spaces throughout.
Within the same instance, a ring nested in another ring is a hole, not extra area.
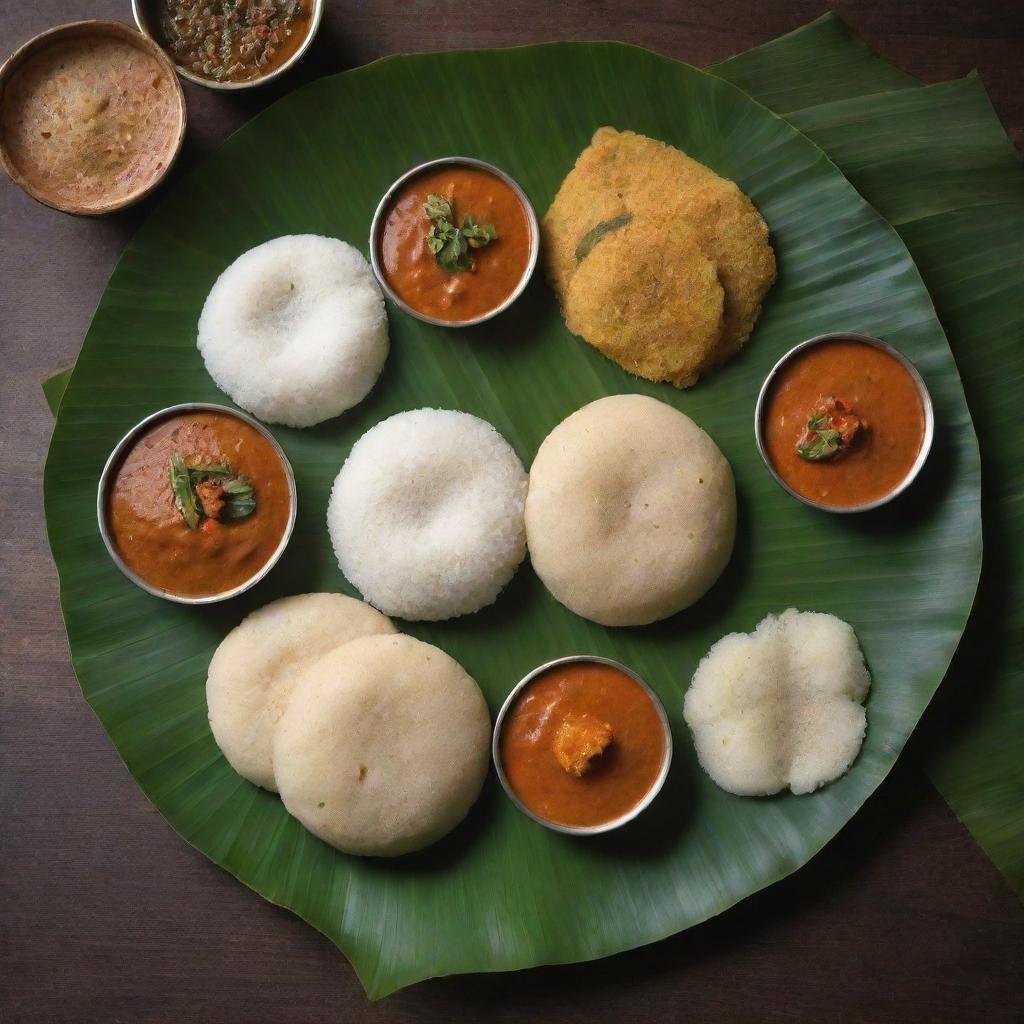
M 870 682 L 849 624 L 790 608 L 708 651 L 683 717 L 700 764 L 723 790 L 813 793 L 857 757 Z

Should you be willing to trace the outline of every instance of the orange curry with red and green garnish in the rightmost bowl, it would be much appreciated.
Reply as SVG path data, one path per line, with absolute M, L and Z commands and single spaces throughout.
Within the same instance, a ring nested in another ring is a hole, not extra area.
M 804 349 L 779 371 L 763 428 L 768 458 L 794 490 L 855 508 L 906 478 L 924 442 L 925 410 L 898 359 L 837 339 Z

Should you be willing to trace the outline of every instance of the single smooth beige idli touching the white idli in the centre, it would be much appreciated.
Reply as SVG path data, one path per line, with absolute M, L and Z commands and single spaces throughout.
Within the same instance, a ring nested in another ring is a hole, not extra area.
M 671 406 L 600 398 L 541 444 L 525 518 L 534 568 L 557 600 L 602 626 L 642 626 L 692 604 L 725 568 L 732 470 Z

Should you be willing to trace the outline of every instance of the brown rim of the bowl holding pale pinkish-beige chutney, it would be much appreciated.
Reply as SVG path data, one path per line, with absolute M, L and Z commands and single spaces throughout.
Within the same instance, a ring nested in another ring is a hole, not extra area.
M 11 181 L 13 181 L 14 184 L 16 184 L 26 195 L 31 196 L 37 203 L 42 203 L 43 206 L 48 206 L 52 210 L 59 210 L 61 213 L 72 213 L 83 217 L 101 217 L 108 213 L 124 210 L 126 207 L 140 203 L 143 199 L 155 191 L 157 187 L 162 184 L 164 180 L 166 180 L 167 175 L 170 174 L 171 169 L 177 162 L 178 156 L 181 153 L 181 146 L 184 142 L 185 128 L 188 123 L 188 111 L 185 105 L 184 90 L 181 88 L 181 83 L 178 81 L 177 75 L 174 74 L 175 68 L 170 57 L 168 57 L 163 49 L 161 49 L 161 47 L 158 46 L 153 39 L 145 35 L 145 33 L 138 32 L 130 25 L 125 25 L 123 22 L 111 22 L 104 18 L 88 18 L 82 22 L 67 22 L 63 25 L 56 25 L 51 29 L 46 29 L 24 42 L 16 50 L 14 50 L 13 53 L 10 54 L 10 56 L 0 63 L 0 106 L 2 106 L 3 103 L 3 95 L 6 91 L 7 83 L 17 73 L 18 68 L 20 68 L 22 65 L 25 63 L 30 57 L 35 56 L 37 53 L 41 53 L 48 47 L 62 42 L 66 39 L 88 39 L 96 36 L 101 38 L 113 37 L 121 39 L 124 42 L 135 46 L 142 52 L 150 54 L 161 66 L 165 74 L 167 74 L 168 81 L 173 84 L 176 105 L 178 109 L 177 137 L 174 140 L 170 158 L 164 164 L 164 167 L 161 169 L 160 173 L 156 175 L 156 177 L 150 179 L 145 184 L 139 186 L 134 191 L 130 191 L 127 196 L 118 200 L 108 201 L 99 206 L 85 206 L 80 203 L 59 203 L 52 195 L 41 191 L 37 188 L 32 179 L 24 175 L 17 169 L 8 155 L 6 139 L 3 131 L 0 130 L 0 166 L 3 167 L 4 171 L 6 171 L 7 176 L 11 179 Z

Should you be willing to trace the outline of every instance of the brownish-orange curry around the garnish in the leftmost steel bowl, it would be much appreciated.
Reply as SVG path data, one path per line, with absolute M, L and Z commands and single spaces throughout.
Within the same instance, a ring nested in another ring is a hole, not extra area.
M 195 487 L 199 521 L 185 521 L 171 484 L 171 460 L 227 465 L 251 485 L 255 507 L 230 518 L 216 480 Z M 252 579 L 278 550 L 291 517 L 288 476 L 270 442 L 227 413 L 195 412 L 154 424 L 118 467 L 106 521 L 125 563 L 152 587 L 210 597 Z

